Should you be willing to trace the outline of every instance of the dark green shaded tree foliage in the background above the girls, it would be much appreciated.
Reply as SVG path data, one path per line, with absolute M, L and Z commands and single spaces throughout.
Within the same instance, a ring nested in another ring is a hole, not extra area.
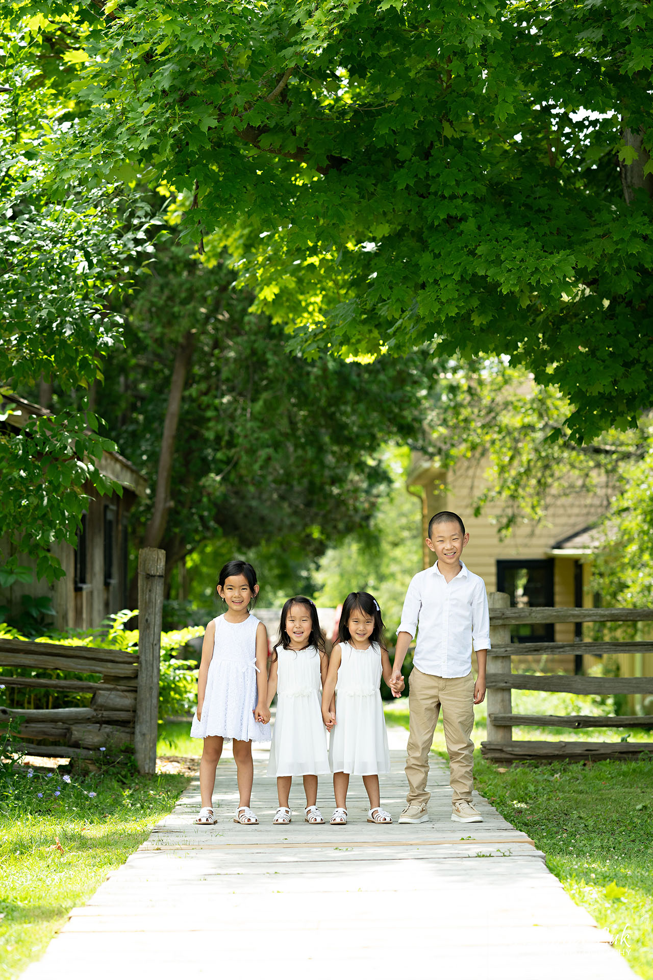
M 135 540 L 164 548 L 168 572 L 215 538 L 240 551 L 276 542 L 309 564 L 370 520 L 388 482 L 380 443 L 421 438 L 437 373 L 420 354 L 362 366 L 289 353 L 283 328 L 248 312 L 253 297 L 233 287 L 225 257 L 202 264 L 169 240 L 150 268 L 97 392 L 107 433 L 150 480 Z

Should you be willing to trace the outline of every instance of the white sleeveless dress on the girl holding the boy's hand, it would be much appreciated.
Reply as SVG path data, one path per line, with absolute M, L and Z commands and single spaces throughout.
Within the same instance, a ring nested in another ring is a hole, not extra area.
M 336 724 L 331 729 L 333 772 L 370 776 L 390 772 L 388 732 L 381 701 L 381 647 L 367 650 L 340 644 L 343 656 L 336 684 Z

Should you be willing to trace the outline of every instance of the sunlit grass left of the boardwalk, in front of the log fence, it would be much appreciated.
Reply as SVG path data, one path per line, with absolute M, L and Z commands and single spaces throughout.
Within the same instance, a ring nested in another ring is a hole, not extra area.
M 17 976 L 41 956 L 70 908 L 83 905 L 136 850 L 187 782 L 184 776 L 131 774 L 123 782 L 112 770 L 72 775 L 65 783 L 60 774 L 28 777 L 4 768 L 0 980 Z

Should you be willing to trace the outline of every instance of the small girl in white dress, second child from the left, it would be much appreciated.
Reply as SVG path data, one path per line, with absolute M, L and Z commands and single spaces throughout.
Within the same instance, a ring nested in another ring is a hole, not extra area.
M 267 767 L 277 777 L 279 809 L 272 823 L 290 823 L 293 776 L 303 776 L 306 823 L 324 823 L 317 809 L 317 776 L 331 772 L 320 687 L 328 661 L 315 604 L 304 596 L 289 599 L 281 611 L 279 640 L 267 680 L 267 704 L 277 695 L 277 715 Z

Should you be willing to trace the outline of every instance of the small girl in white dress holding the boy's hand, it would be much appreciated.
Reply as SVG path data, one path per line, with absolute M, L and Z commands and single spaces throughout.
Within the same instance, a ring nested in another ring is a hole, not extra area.
M 331 732 L 329 761 L 333 769 L 336 809 L 331 823 L 347 823 L 350 775 L 363 777 L 369 797 L 368 823 L 392 823 L 381 809 L 379 773 L 390 772 L 388 733 L 381 701 L 381 676 L 399 698 L 402 682 L 391 682 L 392 669 L 383 639 L 383 619 L 374 596 L 350 592 L 343 604 L 338 643 L 331 652 L 322 688 L 322 717 Z M 332 698 L 337 692 L 335 711 Z

